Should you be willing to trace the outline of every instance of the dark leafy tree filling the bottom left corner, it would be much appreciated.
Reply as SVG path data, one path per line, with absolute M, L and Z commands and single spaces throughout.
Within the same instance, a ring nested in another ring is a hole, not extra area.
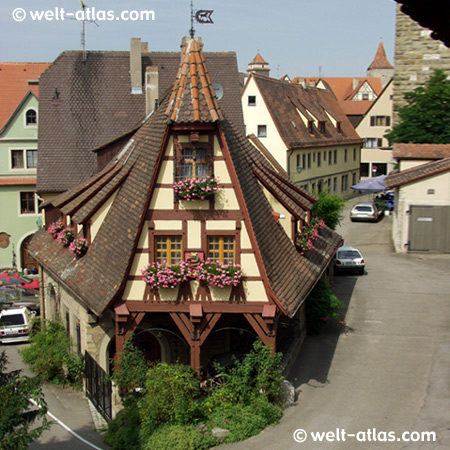
M 20 370 L 6 372 L 8 359 L 0 354 L 0 448 L 25 450 L 37 439 L 49 423 L 38 378 L 20 376 Z M 33 400 L 37 406 L 30 403 Z M 36 420 L 41 424 L 36 425 Z

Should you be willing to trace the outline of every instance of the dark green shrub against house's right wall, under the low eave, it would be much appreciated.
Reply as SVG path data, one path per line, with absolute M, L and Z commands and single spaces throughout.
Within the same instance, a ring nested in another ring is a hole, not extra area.
M 320 280 L 306 299 L 306 325 L 309 333 L 322 330 L 328 317 L 339 318 L 344 304 L 333 294 L 327 283 Z

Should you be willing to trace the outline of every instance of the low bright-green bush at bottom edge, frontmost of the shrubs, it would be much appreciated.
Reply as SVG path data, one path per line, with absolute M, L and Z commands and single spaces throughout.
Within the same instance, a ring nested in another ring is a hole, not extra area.
M 219 442 L 189 425 L 160 426 L 145 442 L 143 450 L 206 450 Z

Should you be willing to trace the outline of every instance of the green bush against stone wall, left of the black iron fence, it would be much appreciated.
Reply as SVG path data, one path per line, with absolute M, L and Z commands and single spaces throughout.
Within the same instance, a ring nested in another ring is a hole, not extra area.
M 21 354 L 35 373 L 55 384 L 81 386 L 83 358 L 72 353 L 72 341 L 60 322 L 42 322 L 41 329 L 30 337 L 30 344 Z

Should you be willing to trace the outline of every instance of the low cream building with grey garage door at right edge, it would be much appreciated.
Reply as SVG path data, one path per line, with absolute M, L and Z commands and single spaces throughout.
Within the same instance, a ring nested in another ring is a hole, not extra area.
M 393 242 L 397 252 L 450 253 L 450 144 L 394 144 L 398 172 Z

